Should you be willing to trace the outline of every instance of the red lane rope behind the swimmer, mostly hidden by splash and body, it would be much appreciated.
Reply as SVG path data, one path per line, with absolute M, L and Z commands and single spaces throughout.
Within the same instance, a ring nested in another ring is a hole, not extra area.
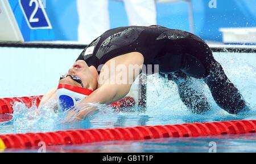
M 43 96 L 32 96 L 32 97 L 16 97 L 16 98 L 1 98 L 0 99 L 0 114 L 12 114 L 13 105 L 15 102 L 23 102 L 28 108 L 34 103 L 36 106 L 39 105 Z M 125 97 L 120 101 L 113 103 L 111 106 L 114 109 L 122 109 L 123 107 L 131 107 L 135 105 L 133 97 Z

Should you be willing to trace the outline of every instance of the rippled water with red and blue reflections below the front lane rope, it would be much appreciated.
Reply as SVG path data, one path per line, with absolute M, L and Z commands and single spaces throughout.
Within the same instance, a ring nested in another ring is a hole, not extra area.
M 217 153 L 256 152 L 255 134 L 225 135 L 207 137 L 188 137 L 154 139 L 142 141 L 107 141 L 82 145 L 48 146 L 46 152 L 71 153 L 208 153 L 216 143 Z M 5 152 L 37 152 L 38 148 L 7 149 Z

